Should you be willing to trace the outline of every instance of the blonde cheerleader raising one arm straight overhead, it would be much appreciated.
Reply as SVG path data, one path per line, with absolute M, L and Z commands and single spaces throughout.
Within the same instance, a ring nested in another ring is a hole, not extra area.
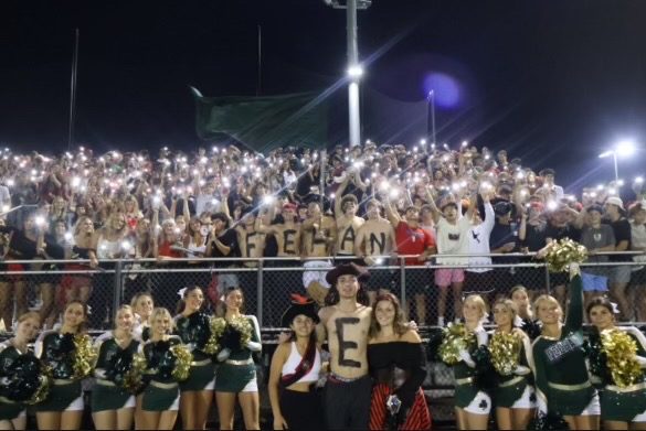
M 579 265 L 570 263 L 570 304 L 565 324 L 555 298 L 540 295 L 534 313 L 542 324 L 532 355 L 539 411 L 562 416 L 571 430 L 599 429 L 599 396 L 583 351 L 583 287 Z

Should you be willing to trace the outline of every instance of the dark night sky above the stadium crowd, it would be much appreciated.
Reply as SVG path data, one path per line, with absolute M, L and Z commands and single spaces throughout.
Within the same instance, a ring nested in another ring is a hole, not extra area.
M 75 28 L 76 141 L 193 149 L 188 85 L 255 95 L 260 25 L 261 94 L 329 87 L 346 68 L 345 20 L 321 0 L 2 1 L 0 141 L 66 149 Z M 596 155 L 616 140 L 646 149 L 645 22 L 640 0 L 374 0 L 359 12 L 362 85 L 413 103 L 434 82 L 440 142 L 507 149 L 578 188 L 612 177 Z M 623 176 L 644 171 L 644 151 L 619 161 Z

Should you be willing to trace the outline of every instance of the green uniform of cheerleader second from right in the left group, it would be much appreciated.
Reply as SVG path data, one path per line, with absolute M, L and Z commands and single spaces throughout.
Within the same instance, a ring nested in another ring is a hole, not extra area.
M 215 365 L 211 357 L 201 351 L 211 336 L 210 317 L 205 313 L 192 313 L 188 317 L 174 317 L 176 334 L 189 346 L 193 354 L 189 378 L 180 384 L 180 390 L 213 390 L 215 387 Z

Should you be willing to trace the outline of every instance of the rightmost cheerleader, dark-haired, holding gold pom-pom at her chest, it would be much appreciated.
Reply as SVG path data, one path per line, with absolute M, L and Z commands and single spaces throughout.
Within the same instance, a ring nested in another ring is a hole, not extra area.
M 613 305 L 606 298 L 595 298 L 586 310 L 597 331 L 591 336 L 590 362 L 592 379 L 602 388 L 603 428 L 646 430 L 646 337 L 634 326 L 616 327 L 618 311 Z M 633 345 L 634 353 L 622 345 Z

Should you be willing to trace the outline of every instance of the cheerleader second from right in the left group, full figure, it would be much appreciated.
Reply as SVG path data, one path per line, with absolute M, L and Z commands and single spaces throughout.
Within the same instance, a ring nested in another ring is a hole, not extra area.
M 193 354 L 189 378 L 180 385 L 180 412 L 184 430 L 203 430 L 213 401 L 215 365 L 203 348 L 211 335 L 209 315 L 203 313 L 202 289 L 192 285 L 180 290 L 181 301 L 174 317 L 176 333 Z

